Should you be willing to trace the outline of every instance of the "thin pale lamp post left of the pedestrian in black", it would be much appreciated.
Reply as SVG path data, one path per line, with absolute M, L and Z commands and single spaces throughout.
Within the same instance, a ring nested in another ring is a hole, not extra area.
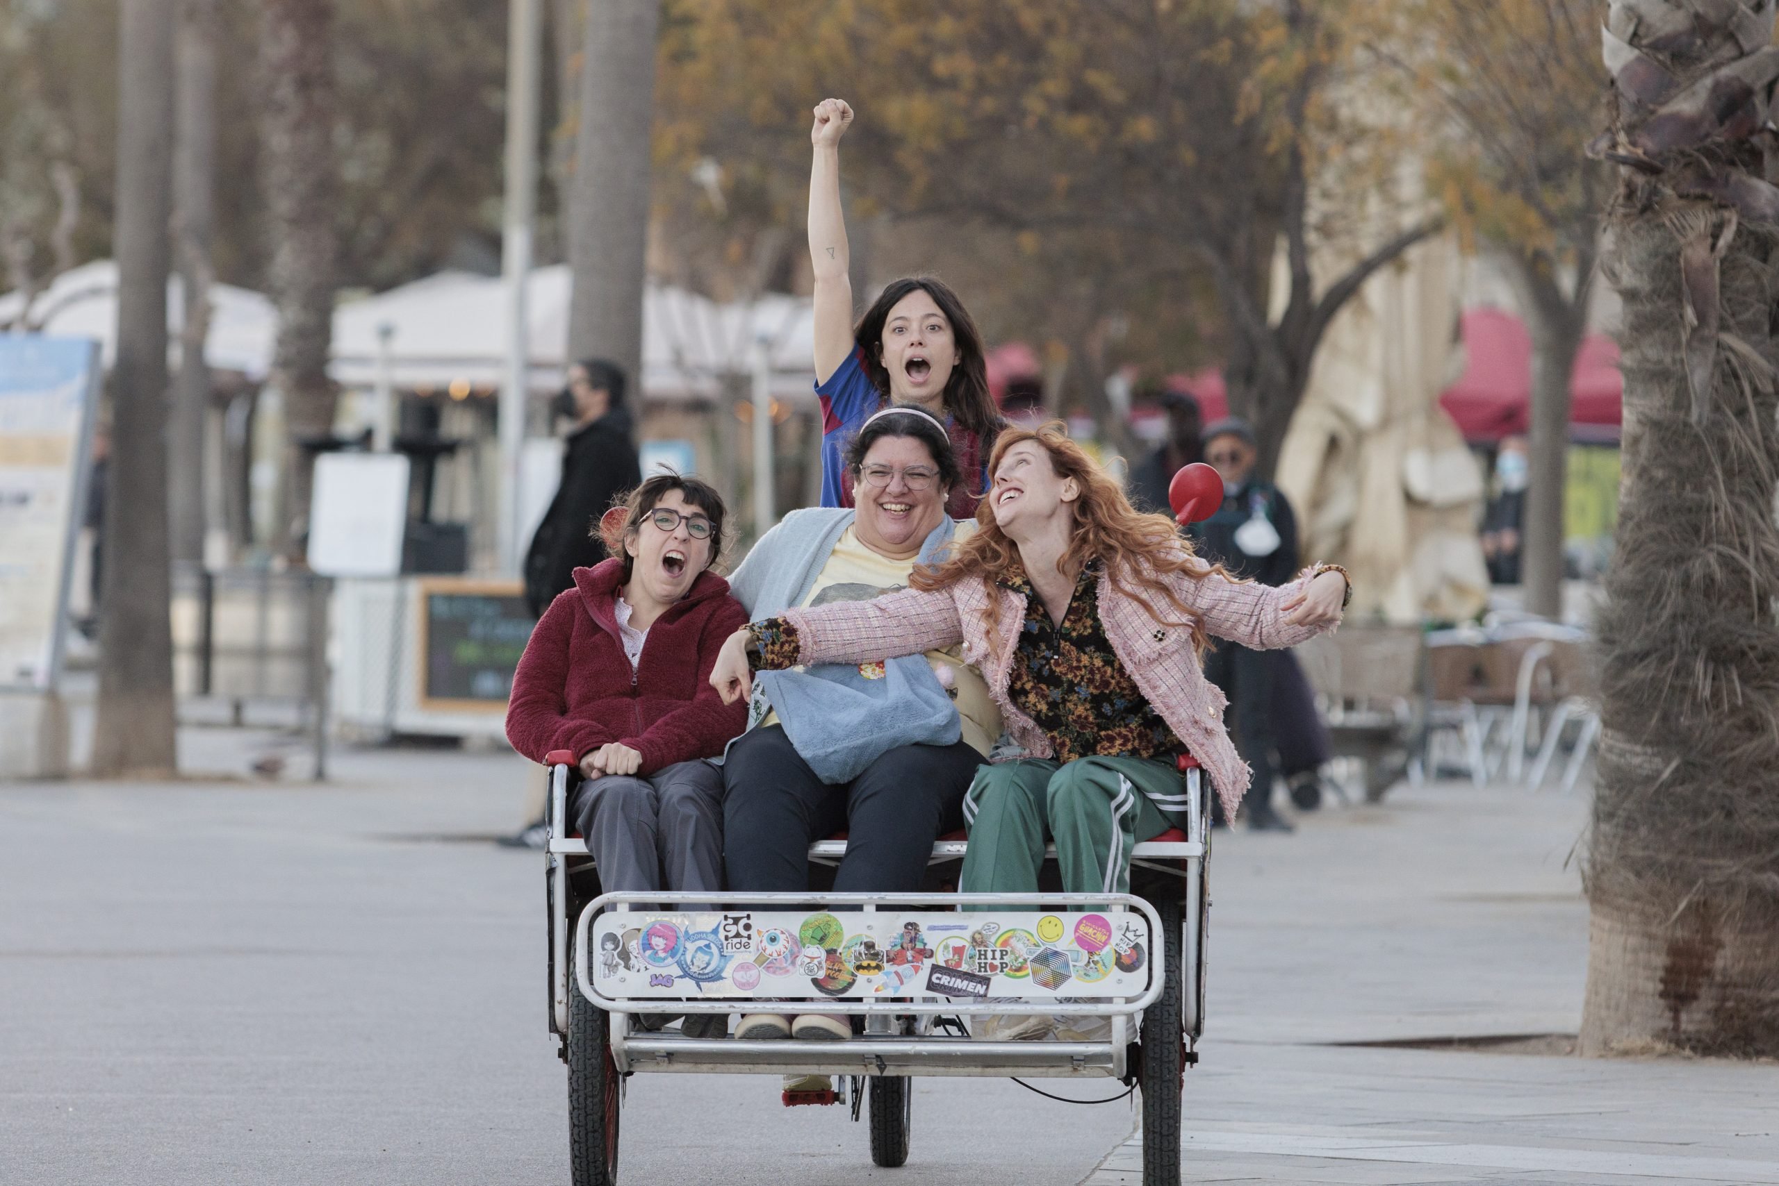
M 527 281 L 532 270 L 532 212 L 537 192 L 537 0 L 511 0 L 507 11 L 507 178 L 502 203 L 500 281 L 505 297 L 507 357 L 500 375 L 500 567 L 519 571 L 519 453 L 525 443 Z

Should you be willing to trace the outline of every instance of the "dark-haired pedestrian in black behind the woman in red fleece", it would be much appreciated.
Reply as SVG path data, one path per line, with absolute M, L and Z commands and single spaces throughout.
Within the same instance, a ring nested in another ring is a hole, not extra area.
M 605 359 L 568 368 L 555 414 L 569 421 L 562 446 L 562 484 L 525 553 L 525 601 L 541 617 L 555 596 L 575 587 L 575 569 L 605 560 L 594 530 L 621 494 L 642 482 L 624 407 L 624 370 Z

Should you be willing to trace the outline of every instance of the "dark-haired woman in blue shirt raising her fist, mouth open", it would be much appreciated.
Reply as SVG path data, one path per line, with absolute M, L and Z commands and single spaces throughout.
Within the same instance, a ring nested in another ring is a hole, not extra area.
M 989 395 L 982 334 L 962 301 L 934 277 L 904 277 L 852 324 L 852 254 L 840 206 L 840 137 L 852 108 L 822 100 L 809 142 L 809 265 L 815 272 L 815 395 L 822 400 L 822 505 L 850 507 L 843 455 L 879 409 L 918 404 L 945 425 L 962 478 L 945 510 L 977 514 L 987 491 L 987 459 L 1005 421 Z

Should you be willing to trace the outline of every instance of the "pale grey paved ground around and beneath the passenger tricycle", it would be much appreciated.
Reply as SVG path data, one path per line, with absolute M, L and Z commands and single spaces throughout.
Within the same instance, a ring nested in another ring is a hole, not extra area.
M 192 768 L 278 749 L 187 731 Z M 0 784 L 0 1184 L 560 1182 L 511 754 L 327 786 Z M 1187 1181 L 1779 1182 L 1779 1067 L 1343 1046 L 1573 1033 L 1580 797 L 1439 786 L 1219 836 Z M 1069 1085 L 1092 1097 L 1107 1085 Z M 1135 1182 L 1128 1102 L 922 1079 L 906 1170 L 776 1081 L 637 1076 L 624 1181 Z M 1108 1152 L 1110 1150 L 1110 1152 Z M 1098 1166 L 1098 1168 L 1096 1168 Z

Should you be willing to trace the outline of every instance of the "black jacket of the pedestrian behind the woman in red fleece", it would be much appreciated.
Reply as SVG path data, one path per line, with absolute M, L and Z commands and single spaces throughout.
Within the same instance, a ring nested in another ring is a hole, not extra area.
M 534 615 L 543 615 L 559 592 L 575 587 L 575 569 L 605 560 L 605 544 L 594 526 L 617 496 L 640 482 L 628 409 L 614 407 L 569 434 L 562 448 L 562 484 L 525 553 L 525 601 Z

